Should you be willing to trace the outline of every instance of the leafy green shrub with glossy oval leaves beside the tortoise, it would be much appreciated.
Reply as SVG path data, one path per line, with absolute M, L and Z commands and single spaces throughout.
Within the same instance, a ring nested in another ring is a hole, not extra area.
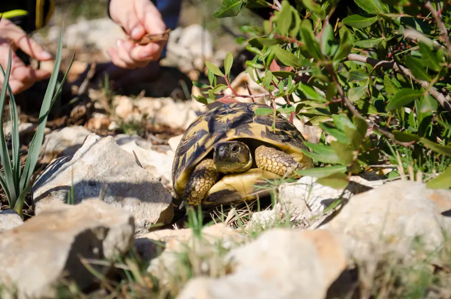
M 259 114 L 308 117 L 306 125 L 322 129 L 318 144 L 306 142 L 311 151 L 305 154 L 317 168 L 301 173 L 343 188 L 351 174 L 393 164 L 391 177 L 407 172 L 429 180 L 430 188 L 451 187 L 448 4 L 356 0 L 357 11 L 347 9 L 334 26 L 329 19 L 336 0 L 296 4 L 223 0 L 214 17 L 234 17 L 245 7 L 274 11 L 263 28 L 245 28 L 247 49 L 255 54 L 246 72 L 267 90 L 252 97 L 273 103 Z M 249 97 L 222 92 L 230 87 L 232 60 L 229 53 L 221 69 L 206 62 L 210 84 L 194 82 L 203 89 L 193 96 L 197 101 Z M 216 76 L 227 84 L 217 84 Z M 279 97 L 283 105 L 276 104 Z M 325 134 L 334 140 L 327 142 Z

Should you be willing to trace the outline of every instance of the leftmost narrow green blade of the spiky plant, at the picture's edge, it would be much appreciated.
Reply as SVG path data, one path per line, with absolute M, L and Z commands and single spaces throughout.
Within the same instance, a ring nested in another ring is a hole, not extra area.
M 2 86 L 2 93 L 0 93 L 0 160 L 2 161 L 3 165 L 3 171 L 5 173 L 5 186 L 8 189 L 5 190 L 7 194 L 10 195 L 8 198 L 8 201 L 10 204 L 15 205 L 17 200 L 17 193 L 16 188 L 14 186 L 14 177 L 13 177 L 13 171 L 12 171 L 12 165 L 11 165 L 11 159 L 10 154 L 8 152 L 8 147 L 6 144 L 5 139 L 5 131 L 3 127 L 3 111 L 5 108 L 5 99 L 6 99 L 6 91 L 8 87 L 10 86 L 9 80 L 10 80 L 10 73 L 11 73 L 11 58 L 12 58 L 12 51 L 10 48 L 9 56 L 8 56 L 8 67 L 7 71 L 5 73 L 2 66 L 0 66 L 0 69 L 2 70 L 2 73 L 4 75 L 4 82 Z

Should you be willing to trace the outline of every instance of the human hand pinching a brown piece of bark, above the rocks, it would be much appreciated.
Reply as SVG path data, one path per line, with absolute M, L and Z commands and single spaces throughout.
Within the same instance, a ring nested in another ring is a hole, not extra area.
M 111 0 L 110 16 L 134 40 L 166 30 L 160 12 L 150 0 Z M 130 40 L 118 40 L 117 48 L 109 48 L 107 51 L 115 65 L 133 69 L 157 60 L 163 46 L 164 43 L 137 45 Z

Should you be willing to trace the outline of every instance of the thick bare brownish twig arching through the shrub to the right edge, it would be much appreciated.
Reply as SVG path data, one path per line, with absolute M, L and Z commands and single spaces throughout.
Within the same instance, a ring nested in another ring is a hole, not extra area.
M 434 98 L 437 100 L 437 102 L 447 111 L 451 111 L 451 104 L 446 100 L 446 98 L 444 97 L 443 94 L 441 94 L 440 92 L 438 92 L 438 90 L 436 90 L 434 87 L 429 86 L 429 82 L 427 81 L 423 81 L 423 80 L 419 80 L 416 79 L 413 75 L 412 72 L 400 65 L 400 64 L 396 64 L 394 61 L 385 61 L 385 60 L 378 60 L 378 59 L 374 59 L 374 58 L 370 58 L 370 57 L 365 57 L 359 54 L 349 54 L 347 57 L 347 60 L 350 61 L 360 61 L 360 62 L 364 62 L 364 63 L 368 63 L 372 66 L 375 65 L 379 65 L 385 69 L 393 69 L 398 73 L 401 73 L 403 75 L 405 75 L 408 78 L 412 78 L 414 81 L 418 82 L 424 89 L 428 90 L 427 92 Z

